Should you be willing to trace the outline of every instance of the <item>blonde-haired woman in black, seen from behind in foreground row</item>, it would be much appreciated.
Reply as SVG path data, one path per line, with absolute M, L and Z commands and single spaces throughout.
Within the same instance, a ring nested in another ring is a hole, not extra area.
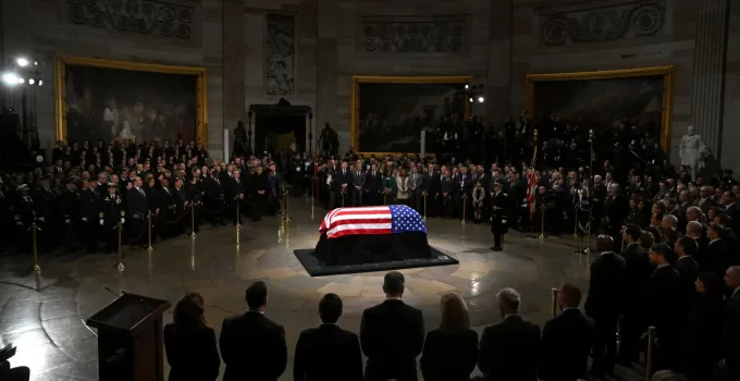
M 470 329 L 465 300 L 442 295 L 440 328 L 427 334 L 421 354 L 424 381 L 467 381 L 478 359 L 478 333 Z

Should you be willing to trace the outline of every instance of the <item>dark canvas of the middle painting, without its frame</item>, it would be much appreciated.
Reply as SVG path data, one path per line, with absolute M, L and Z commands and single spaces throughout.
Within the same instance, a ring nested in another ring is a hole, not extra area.
M 358 151 L 420 152 L 422 130 L 433 134 L 465 123 L 464 83 L 358 86 Z

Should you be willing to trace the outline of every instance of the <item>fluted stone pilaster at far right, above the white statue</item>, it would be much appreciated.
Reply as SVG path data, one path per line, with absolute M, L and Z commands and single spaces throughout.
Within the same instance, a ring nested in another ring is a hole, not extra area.
M 728 0 L 698 0 L 691 123 L 717 160 L 721 157 Z

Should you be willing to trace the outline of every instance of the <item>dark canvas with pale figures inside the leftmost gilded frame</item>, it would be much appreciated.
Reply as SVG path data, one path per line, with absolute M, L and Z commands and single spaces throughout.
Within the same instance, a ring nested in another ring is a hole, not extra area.
M 65 70 L 67 139 L 196 140 L 196 75 Z

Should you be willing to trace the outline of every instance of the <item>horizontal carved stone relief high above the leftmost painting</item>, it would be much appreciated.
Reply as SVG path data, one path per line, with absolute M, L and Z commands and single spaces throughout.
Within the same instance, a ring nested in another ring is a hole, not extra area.
M 193 1 L 190 1 L 193 2 Z M 189 40 L 195 8 L 161 0 L 64 0 L 66 19 L 77 25 Z

